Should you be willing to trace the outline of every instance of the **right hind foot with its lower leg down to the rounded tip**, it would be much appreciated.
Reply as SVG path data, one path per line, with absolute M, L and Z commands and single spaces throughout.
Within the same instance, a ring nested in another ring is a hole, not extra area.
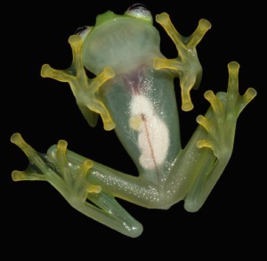
M 187 194 L 184 208 L 190 212 L 198 211 L 207 196 L 214 188 L 231 158 L 237 119 L 240 112 L 256 95 L 254 88 L 248 88 L 243 95 L 239 94 L 239 63 L 228 64 L 229 83 L 227 93 L 214 94 L 207 91 L 205 98 L 211 107 L 206 116 L 199 115 L 198 127 L 204 128 L 206 136 L 198 140 L 199 150 L 213 151 L 206 159 L 205 167 L 199 172 L 195 183 Z M 203 131 L 203 129 L 201 129 Z

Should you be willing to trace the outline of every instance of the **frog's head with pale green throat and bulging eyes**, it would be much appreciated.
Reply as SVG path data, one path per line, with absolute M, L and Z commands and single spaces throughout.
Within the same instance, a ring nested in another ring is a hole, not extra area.
M 110 67 L 117 74 L 135 69 L 140 61 L 152 63 L 150 57 L 162 57 L 158 30 L 152 23 L 150 11 L 141 4 L 130 6 L 124 14 L 98 15 L 93 27 L 78 32 L 85 68 L 98 75 Z

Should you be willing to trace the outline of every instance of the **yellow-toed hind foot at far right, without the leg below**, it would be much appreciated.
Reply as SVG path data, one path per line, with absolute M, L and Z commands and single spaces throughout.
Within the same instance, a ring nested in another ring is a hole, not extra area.
M 230 159 L 239 114 L 256 95 L 254 88 L 248 88 L 244 95 L 239 94 L 238 62 L 231 61 L 228 69 L 227 93 L 215 95 L 213 91 L 206 91 L 205 98 L 210 102 L 212 112 L 197 118 L 198 124 L 203 126 L 207 133 L 206 139 L 198 141 L 198 148 L 210 148 L 219 160 Z

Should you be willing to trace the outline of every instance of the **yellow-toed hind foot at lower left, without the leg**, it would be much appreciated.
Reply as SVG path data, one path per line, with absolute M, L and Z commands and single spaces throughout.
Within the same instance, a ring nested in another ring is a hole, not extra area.
M 76 199 L 85 201 L 88 193 L 101 192 L 100 186 L 86 182 L 86 176 L 93 167 L 93 161 L 85 159 L 76 166 L 69 164 L 66 141 L 60 140 L 56 146 L 57 150 L 47 154 L 35 151 L 18 133 L 12 135 L 11 141 L 24 151 L 29 160 L 28 168 L 25 171 L 14 170 L 12 172 L 14 181 L 47 181 L 68 201 Z

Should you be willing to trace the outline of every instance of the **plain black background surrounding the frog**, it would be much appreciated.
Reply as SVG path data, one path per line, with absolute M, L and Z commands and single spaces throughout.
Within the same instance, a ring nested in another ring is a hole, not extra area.
M 198 45 L 203 79 L 198 91 L 192 91 L 195 109 L 180 112 L 183 145 L 197 126 L 195 118 L 208 107 L 203 97 L 205 91 L 225 91 L 228 62 L 238 61 L 241 65 L 240 94 L 253 86 L 258 95 L 239 117 L 231 161 L 203 208 L 191 214 L 183 209 L 182 202 L 165 211 L 120 201 L 144 226 L 142 236 L 130 239 L 78 213 L 50 184 L 14 183 L 11 178 L 13 169 L 23 170 L 28 165 L 20 149 L 10 143 L 14 132 L 20 132 L 37 151 L 44 152 L 59 139 L 65 139 L 72 151 L 126 173 L 135 172 L 113 132 L 105 132 L 101 121 L 95 128 L 87 126 L 69 86 L 40 77 L 44 63 L 55 69 L 69 66 L 72 56 L 68 38 L 78 27 L 93 25 L 96 15 L 107 10 L 123 13 L 134 1 L 63 3 L 60 6 L 56 2 L 28 6 L 23 3 L 6 9 L 9 18 L 4 20 L 2 38 L 0 136 L 2 248 L 12 249 L 8 250 L 11 259 L 17 255 L 37 259 L 73 254 L 77 255 L 75 259 L 91 260 L 152 258 L 159 254 L 177 260 L 259 255 L 262 250 L 259 238 L 266 232 L 263 223 L 266 110 L 261 102 L 266 85 L 263 7 L 256 2 L 196 5 L 142 1 L 153 15 L 168 12 L 184 36 L 196 29 L 201 18 L 212 23 L 212 29 Z M 12 12 L 13 9 L 17 12 Z M 158 24 L 155 26 L 161 34 L 162 53 L 168 58 L 175 57 L 173 43 Z M 180 107 L 178 86 L 176 90 Z

